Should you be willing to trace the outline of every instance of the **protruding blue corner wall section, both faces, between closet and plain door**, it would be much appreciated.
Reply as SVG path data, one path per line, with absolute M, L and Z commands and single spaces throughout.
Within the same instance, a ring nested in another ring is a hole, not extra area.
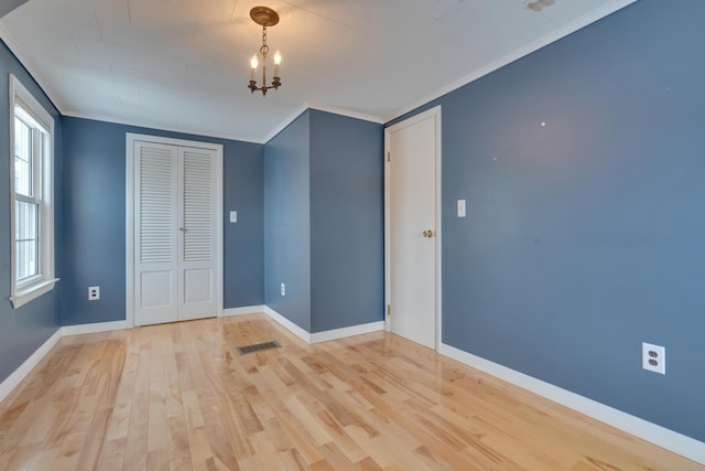
M 265 301 L 306 332 L 383 319 L 382 153 L 381 125 L 317 110 L 264 147 Z

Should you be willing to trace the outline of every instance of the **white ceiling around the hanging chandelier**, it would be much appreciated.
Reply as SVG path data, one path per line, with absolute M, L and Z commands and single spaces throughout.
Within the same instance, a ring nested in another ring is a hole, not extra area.
M 0 36 L 64 115 L 265 142 L 305 107 L 384 122 L 633 1 L 29 0 Z M 258 4 L 281 17 L 265 97 Z

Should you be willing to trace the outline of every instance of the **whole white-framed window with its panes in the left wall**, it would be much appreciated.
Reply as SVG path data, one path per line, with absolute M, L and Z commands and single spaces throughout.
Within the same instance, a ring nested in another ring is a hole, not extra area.
M 10 75 L 12 306 L 52 290 L 54 278 L 54 120 Z

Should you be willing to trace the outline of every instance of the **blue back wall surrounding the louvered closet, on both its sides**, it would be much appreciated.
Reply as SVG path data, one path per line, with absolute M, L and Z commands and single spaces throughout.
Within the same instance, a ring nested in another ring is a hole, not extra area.
M 224 146 L 224 307 L 263 302 L 262 146 L 132 126 L 64 118 L 62 324 L 124 320 L 126 133 Z M 238 211 L 230 224 L 229 211 Z M 88 301 L 89 286 L 100 300 Z

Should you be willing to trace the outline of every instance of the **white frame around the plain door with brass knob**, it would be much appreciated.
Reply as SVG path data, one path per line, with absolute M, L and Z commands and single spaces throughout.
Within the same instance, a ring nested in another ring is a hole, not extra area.
M 441 214 L 441 208 L 442 208 L 442 192 L 441 192 L 441 183 L 442 183 L 442 179 L 441 179 L 441 161 L 442 161 L 442 147 L 441 147 L 441 141 L 442 141 L 442 127 L 441 127 L 441 105 L 437 105 L 431 109 L 427 109 L 423 113 L 420 113 L 415 116 L 412 116 L 411 118 L 406 118 L 403 121 L 399 121 L 388 128 L 384 128 L 384 154 L 382 156 L 383 161 L 384 161 L 384 330 L 390 332 L 391 331 L 391 319 L 388 312 L 387 307 L 390 306 L 391 303 L 391 194 L 390 194 L 390 182 L 391 182 L 391 162 L 389 162 L 388 160 L 388 156 L 389 152 L 392 151 L 391 149 L 391 135 L 392 132 L 399 130 L 399 129 L 403 129 L 408 126 L 412 126 L 415 125 L 416 122 L 423 121 L 430 117 L 433 117 L 435 119 L 435 124 L 436 124 L 436 181 L 435 181 L 435 185 L 436 185 L 436 237 L 435 237 L 435 248 L 436 248 L 436 277 L 435 277 L 435 289 L 436 289 L 436 302 L 435 302 L 435 307 L 436 307 L 436 335 L 435 335 L 435 350 L 436 352 L 438 351 L 438 349 L 441 347 L 442 344 L 442 271 L 441 271 L 441 250 L 442 250 L 442 236 L 443 236 L 443 231 L 441 227 L 441 220 L 442 220 L 442 214 Z M 393 159 L 393 154 L 392 154 L 392 159 Z M 392 308 L 393 309 L 393 308 Z M 392 314 L 394 315 L 394 312 L 392 310 Z

